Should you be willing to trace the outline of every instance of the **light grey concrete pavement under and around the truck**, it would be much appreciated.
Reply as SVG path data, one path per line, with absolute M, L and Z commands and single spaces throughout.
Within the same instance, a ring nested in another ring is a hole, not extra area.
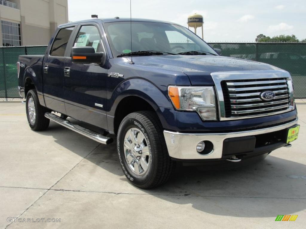
M 239 168 L 179 165 L 167 184 L 141 190 L 125 179 L 115 144 L 54 122 L 34 132 L 24 104 L 1 102 L 0 228 L 305 228 L 306 104 L 297 106 L 293 147 Z M 286 214 L 298 217 L 274 221 Z

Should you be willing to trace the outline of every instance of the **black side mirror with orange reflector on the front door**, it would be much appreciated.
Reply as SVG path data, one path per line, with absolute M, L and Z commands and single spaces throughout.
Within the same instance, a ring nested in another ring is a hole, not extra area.
M 74 64 L 101 64 L 104 53 L 96 53 L 95 49 L 91 46 L 86 47 L 72 47 L 71 49 L 71 61 Z

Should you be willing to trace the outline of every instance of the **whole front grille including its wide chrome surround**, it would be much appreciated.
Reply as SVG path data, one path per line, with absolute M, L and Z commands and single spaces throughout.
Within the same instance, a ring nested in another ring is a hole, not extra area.
M 286 71 L 214 72 L 220 120 L 255 118 L 294 109 L 292 81 Z M 275 98 L 260 97 L 273 91 Z

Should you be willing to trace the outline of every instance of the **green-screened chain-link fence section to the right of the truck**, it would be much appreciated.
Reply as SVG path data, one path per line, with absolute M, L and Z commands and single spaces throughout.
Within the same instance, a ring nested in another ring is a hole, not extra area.
M 290 72 L 294 97 L 306 98 L 306 43 L 210 43 L 222 56 L 255 60 Z

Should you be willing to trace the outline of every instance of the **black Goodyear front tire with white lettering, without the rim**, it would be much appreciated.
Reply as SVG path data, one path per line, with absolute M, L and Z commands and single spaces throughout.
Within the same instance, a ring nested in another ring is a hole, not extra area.
M 131 128 L 139 129 L 148 142 L 150 160 L 147 163 L 150 165 L 141 176 L 133 172 L 125 158 L 125 135 Z M 117 150 L 125 176 L 130 183 L 137 187 L 143 189 L 157 187 L 169 180 L 174 172 L 175 162 L 169 157 L 161 124 L 155 113 L 151 111 L 134 112 L 122 120 L 118 130 Z

